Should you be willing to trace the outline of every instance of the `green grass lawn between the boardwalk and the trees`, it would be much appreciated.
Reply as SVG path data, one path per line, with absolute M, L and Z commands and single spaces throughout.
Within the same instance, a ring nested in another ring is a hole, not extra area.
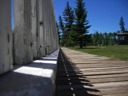
M 79 47 L 69 48 L 77 51 L 82 51 L 85 53 L 110 57 L 116 60 L 128 61 L 128 45 L 86 46 L 83 49 L 80 49 Z

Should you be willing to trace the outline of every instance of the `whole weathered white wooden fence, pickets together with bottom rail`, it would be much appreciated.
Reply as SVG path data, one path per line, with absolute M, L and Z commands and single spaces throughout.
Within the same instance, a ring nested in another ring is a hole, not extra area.
M 0 76 L 0 96 L 54 96 L 59 45 L 52 0 L 14 0 L 13 35 L 10 9 L 11 0 L 0 0 L 0 75 L 12 70 Z

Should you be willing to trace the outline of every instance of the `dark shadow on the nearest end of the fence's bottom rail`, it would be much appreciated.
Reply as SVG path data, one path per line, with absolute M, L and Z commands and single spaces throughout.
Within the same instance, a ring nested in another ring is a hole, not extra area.
M 15 71 L 0 76 L 0 96 L 52 96 L 54 87 L 50 77 Z

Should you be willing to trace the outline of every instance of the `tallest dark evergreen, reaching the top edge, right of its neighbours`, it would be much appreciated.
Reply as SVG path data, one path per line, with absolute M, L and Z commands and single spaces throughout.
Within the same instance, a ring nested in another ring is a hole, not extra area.
M 83 48 L 84 39 L 86 39 L 87 36 L 87 29 L 90 28 L 90 25 L 88 25 L 87 20 L 87 10 L 85 8 L 85 3 L 83 0 L 77 0 L 76 1 L 76 8 L 75 8 L 75 15 L 76 15 L 76 31 L 78 32 L 78 42 L 80 48 Z M 87 43 L 85 41 L 85 43 Z

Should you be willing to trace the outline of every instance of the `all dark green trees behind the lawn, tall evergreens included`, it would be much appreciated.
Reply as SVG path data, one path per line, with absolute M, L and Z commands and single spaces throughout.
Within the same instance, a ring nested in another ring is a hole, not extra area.
M 120 31 L 118 32 L 103 33 L 97 31 L 89 34 L 88 28 L 91 25 L 89 25 L 87 20 L 85 2 L 83 0 L 76 0 L 76 7 L 74 9 L 69 5 L 69 2 L 66 3 L 62 16 L 59 16 L 57 30 L 61 46 L 80 46 L 80 48 L 83 48 L 86 45 L 118 44 L 116 33 L 127 32 L 123 17 L 120 18 L 119 26 Z

